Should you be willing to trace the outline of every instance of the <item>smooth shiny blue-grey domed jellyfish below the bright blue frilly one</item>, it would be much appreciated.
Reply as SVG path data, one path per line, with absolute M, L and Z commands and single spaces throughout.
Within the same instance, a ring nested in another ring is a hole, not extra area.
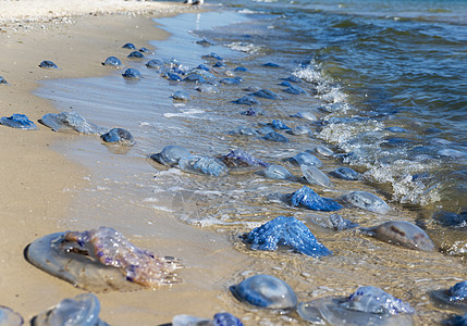
M 297 305 L 294 290 L 282 279 L 271 275 L 255 275 L 230 287 L 232 294 L 242 302 L 266 308 L 290 310 Z

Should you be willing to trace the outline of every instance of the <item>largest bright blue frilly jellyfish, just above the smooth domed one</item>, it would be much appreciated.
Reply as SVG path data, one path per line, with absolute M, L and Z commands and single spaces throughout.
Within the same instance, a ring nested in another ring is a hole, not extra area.
M 309 228 L 295 217 L 279 216 L 251 230 L 245 241 L 254 250 L 276 250 L 278 246 L 285 246 L 310 256 L 331 254 Z

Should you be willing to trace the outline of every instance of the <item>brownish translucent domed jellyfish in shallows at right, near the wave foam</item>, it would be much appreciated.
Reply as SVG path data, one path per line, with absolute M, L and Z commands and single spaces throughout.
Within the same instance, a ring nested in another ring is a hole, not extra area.
M 393 244 L 423 251 L 435 250 L 430 237 L 409 222 L 390 221 L 371 228 L 362 228 L 362 230 L 381 241 Z

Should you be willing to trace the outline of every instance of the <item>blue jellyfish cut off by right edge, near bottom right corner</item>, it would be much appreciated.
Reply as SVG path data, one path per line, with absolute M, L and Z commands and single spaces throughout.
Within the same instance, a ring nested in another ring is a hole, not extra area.
M 441 309 L 451 309 L 467 313 L 467 280 L 456 283 L 448 289 L 434 290 L 430 299 Z

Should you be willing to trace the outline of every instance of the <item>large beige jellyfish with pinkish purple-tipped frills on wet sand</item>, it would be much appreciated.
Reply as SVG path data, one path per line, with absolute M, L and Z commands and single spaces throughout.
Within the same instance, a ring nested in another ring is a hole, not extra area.
M 173 258 L 156 256 L 110 227 L 39 238 L 26 249 L 36 267 L 93 291 L 156 289 L 177 283 Z

